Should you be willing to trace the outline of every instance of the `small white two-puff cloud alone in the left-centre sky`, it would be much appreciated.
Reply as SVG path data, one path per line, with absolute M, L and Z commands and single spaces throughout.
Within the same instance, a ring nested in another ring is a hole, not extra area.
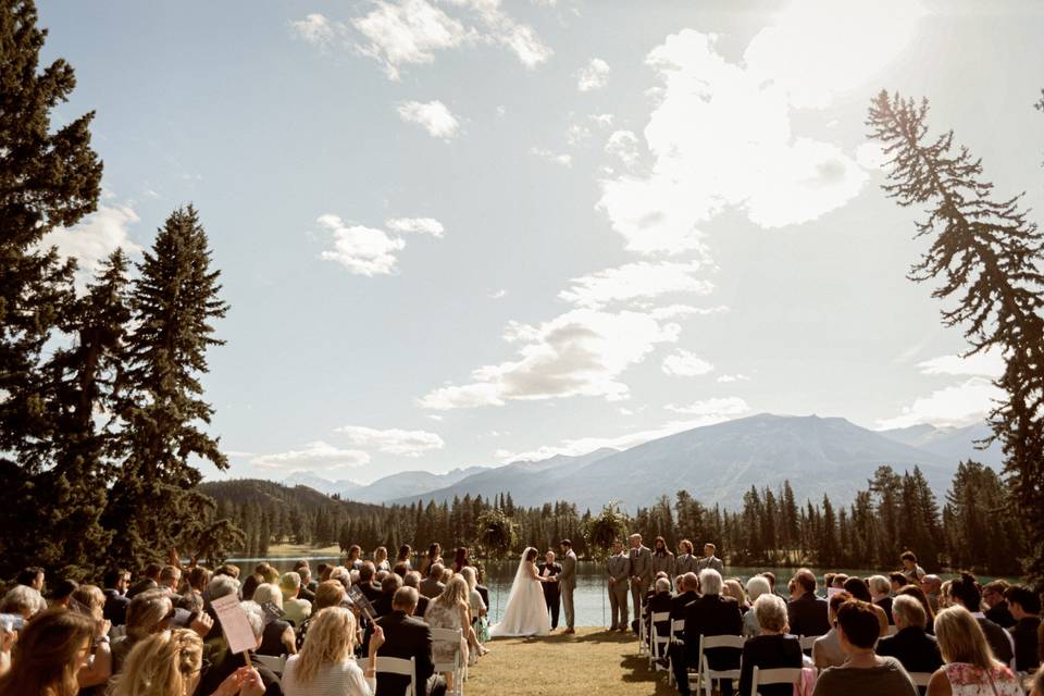
M 334 237 L 334 248 L 320 254 L 324 261 L 336 261 L 358 275 L 387 275 L 395 272 L 398 262 L 396 254 L 406 248 L 406 239 L 384 229 L 348 224 L 332 213 L 320 215 L 316 222 Z M 397 217 L 387 222 L 396 233 L 442 236 L 442 224 L 432 217 Z

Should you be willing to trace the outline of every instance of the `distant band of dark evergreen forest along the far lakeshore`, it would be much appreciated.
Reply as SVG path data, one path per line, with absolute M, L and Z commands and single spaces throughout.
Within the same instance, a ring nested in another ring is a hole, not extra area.
M 580 511 L 566 500 L 523 508 L 504 493 L 490 499 L 465 495 L 451 502 L 374 506 L 257 480 L 206 483 L 200 489 L 216 500 L 219 519 L 244 530 L 245 543 L 234 552 L 245 557 L 264 557 L 279 543 L 337 544 L 341 549 L 358 544 L 366 552 L 386 546 L 394 557 L 400 544 L 423 552 L 432 542 L 490 556 L 484 521 L 496 510 L 513 527 L 506 554 L 526 546 L 556 548 L 568 537 L 582 557 L 605 555 L 591 539 L 597 537 L 594 522 L 606 511 Z M 634 515 L 611 506 L 609 512 L 621 519 L 621 533 L 638 532 L 649 546 L 662 536 L 673 551 L 687 538 L 698 552 L 704 542 L 713 542 L 737 566 L 891 569 L 910 549 L 929 571 L 960 568 L 1003 575 L 1021 571 L 1024 549 L 1010 509 L 996 472 L 969 461 L 958 467 L 942 504 L 920 470 L 899 474 L 880 467 L 848 506 L 826 496 L 799 504 L 785 482 L 779 490 L 751 486 L 735 511 L 706 506 L 679 490 L 673 499 L 664 495 Z

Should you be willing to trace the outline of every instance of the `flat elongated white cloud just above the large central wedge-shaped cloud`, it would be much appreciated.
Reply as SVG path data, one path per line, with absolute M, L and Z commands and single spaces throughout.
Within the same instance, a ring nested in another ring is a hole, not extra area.
M 697 261 L 627 263 L 573 278 L 570 287 L 558 296 L 580 307 L 600 308 L 613 302 L 651 299 L 672 293 L 707 295 L 713 285 L 693 276 L 699 269 Z

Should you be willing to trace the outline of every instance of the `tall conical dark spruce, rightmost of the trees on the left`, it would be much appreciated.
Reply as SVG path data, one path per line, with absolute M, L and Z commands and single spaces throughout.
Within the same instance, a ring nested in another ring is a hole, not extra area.
M 227 467 L 217 439 L 203 430 L 213 409 L 199 382 L 207 349 L 223 343 L 211 323 L 227 306 L 217 297 L 220 272 L 211 269 L 207 233 L 191 206 L 167 217 L 139 273 L 132 291 L 138 328 L 117 406 L 125 459 L 105 510 L 107 526 L 121 530 L 115 559 L 137 566 L 177 544 L 194 512 L 188 494 L 200 481 L 192 459 Z M 266 548 L 268 539 L 260 545 Z

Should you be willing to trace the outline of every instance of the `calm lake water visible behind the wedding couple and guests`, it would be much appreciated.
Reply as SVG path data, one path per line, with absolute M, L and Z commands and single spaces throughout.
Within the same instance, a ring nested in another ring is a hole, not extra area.
M 291 570 L 294 562 L 298 558 L 266 558 L 266 559 L 232 559 L 229 562 L 236 563 L 243 568 L 249 568 L 252 563 L 268 561 L 281 572 Z M 337 563 L 340 561 L 337 557 L 309 557 L 309 562 L 314 568 L 319 563 Z M 504 606 L 508 601 L 508 593 L 511 592 L 511 582 L 514 580 L 514 572 L 519 568 L 518 560 L 504 561 L 483 561 L 486 569 L 486 586 L 489 588 L 489 614 L 490 623 L 499 621 L 504 613 Z M 822 577 L 822 569 L 811 569 L 819 577 Z M 737 566 L 725 567 L 725 577 L 738 577 L 746 584 L 751 575 L 765 571 L 772 571 L 776 577 L 776 591 L 786 594 L 786 583 L 794 574 L 793 568 L 744 568 Z M 835 571 L 836 572 L 836 571 Z M 848 575 L 859 575 L 867 577 L 878 573 L 878 571 L 859 569 L 841 569 L 840 572 Z M 947 575 L 941 575 L 946 579 Z M 992 577 L 982 576 L 981 582 L 989 582 Z M 630 598 L 629 598 L 630 601 Z M 580 561 L 576 568 L 576 592 L 573 594 L 573 602 L 576 607 L 577 626 L 607 626 L 609 624 L 609 596 L 606 591 L 606 581 L 604 566 L 594 561 Z M 629 608 L 629 611 L 633 611 Z M 562 614 L 563 616 L 563 614 Z M 629 613 L 629 616 L 633 616 Z M 559 625 L 564 624 L 564 619 L 560 617 Z

